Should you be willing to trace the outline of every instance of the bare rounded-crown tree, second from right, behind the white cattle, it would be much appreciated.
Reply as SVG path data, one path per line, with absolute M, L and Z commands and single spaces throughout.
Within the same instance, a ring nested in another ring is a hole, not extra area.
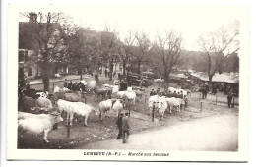
M 151 65 L 164 79 L 165 87 L 170 83 L 169 74 L 173 68 L 182 62 L 182 38 L 170 31 L 165 36 L 158 35 L 152 49 Z

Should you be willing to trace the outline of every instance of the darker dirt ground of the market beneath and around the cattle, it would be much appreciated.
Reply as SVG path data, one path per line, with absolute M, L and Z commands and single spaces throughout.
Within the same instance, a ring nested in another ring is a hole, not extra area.
M 100 78 L 100 81 L 101 83 L 110 83 L 104 79 L 104 77 Z M 55 86 L 61 86 L 60 84 L 62 83 L 55 83 Z M 34 88 L 38 88 L 38 86 L 33 85 Z M 156 113 L 156 118 L 154 122 L 152 122 L 147 102 L 150 90 L 158 87 L 162 88 L 158 84 L 148 87 L 142 101 L 137 101 L 136 104 L 132 106 L 130 117 L 131 134 L 155 131 L 168 126 L 177 126 L 191 121 L 202 120 L 202 118 L 210 118 L 220 115 L 228 116 L 229 113 L 232 113 L 232 115 L 235 113 L 238 116 L 238 105 L 235 105 L 234 108 L 228 108 L 226 104 L 226 96 L 224 94 L 218 94 L 216 105 L 215 95 L 208 94 L 207 99 L 201 100 L 199 99 L 200 93 L 193 92 L 191 96 L 188 96 L 188 107 L 185 108 L 185 110 L 183 108 L 181 112 L 173 111 L 172 114 L 165 112 L 163 121 L 158 120 L 159 114 Z M 97 107 L 100 101 L 101 98 L 97 98 L 93 94 L 87 96 L 87 103 L 90 103 L 93 106 Z M 200 109 L 201 103 L 202 110 Z M 115 123 L 116 114 L 113 112 L 110 112 L 110 118 L 104 118 L 102 122 L 99 120 L 98 115 L 91 114 L 88 120 L 88 126 L 84 126 L 83 123 L 77 124 L 74 122 L 73 127 L 70 129 L 70 137 L 67 137 L 66 119 L 64 119 L 64 121 L 59 124 L 57 130 L 49 132 L 49 143 L 45 143 L 42 140 L 42 135 L 33 137 L 25 134 L 23 138 L 18 137 L 18 148 L 73 149 L 80 145 L 100 140 L 115 139 L 118 134 L 118 129 Z

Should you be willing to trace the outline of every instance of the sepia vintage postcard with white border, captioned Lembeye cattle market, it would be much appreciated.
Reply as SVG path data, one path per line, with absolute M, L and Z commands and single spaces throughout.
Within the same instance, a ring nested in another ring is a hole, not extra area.
M 7 159 L 248 161 L 249 12 L 9 4 Z

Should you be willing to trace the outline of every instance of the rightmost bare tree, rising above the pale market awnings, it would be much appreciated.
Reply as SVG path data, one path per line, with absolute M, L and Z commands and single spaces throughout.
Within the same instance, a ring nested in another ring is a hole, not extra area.
M 219 70 L 224 60 L 239 50 L 239 23 L 221 27 L 216 32 L 203 34 L 199 39 L 202 50 L 208 57 L 209 81 Z

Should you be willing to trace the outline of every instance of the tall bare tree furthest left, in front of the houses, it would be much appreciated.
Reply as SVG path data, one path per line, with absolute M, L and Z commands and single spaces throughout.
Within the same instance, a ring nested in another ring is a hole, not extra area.
M 49 67 L 54 57 L 63 52 L 63 37 L 61 35 L 61 22 L 65 19 L 62 13 L 20 13 L 30 19 L 30 30 L 32 39 L 36 41 L 36 46 L 41 58 L 42 81 L 44 90 L 49 91 Z

